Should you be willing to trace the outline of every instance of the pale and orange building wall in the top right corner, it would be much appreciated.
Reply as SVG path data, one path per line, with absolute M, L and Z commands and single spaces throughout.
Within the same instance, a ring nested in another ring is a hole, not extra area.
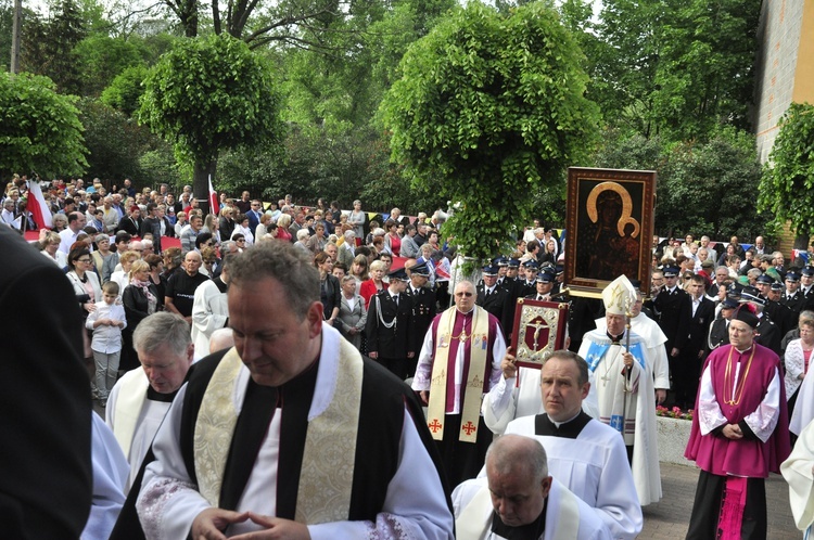
M 766 162 L 789 104 L 814 103 L 814 0 L 764 0 L 758 39 L 753 126 Z

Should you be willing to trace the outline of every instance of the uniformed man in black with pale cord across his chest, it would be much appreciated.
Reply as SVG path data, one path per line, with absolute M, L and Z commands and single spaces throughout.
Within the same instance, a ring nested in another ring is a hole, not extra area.
M 402 380 L 407 378 L 407 362 L 418 351 L 410 350 L 412 300 L 405 294 L 409 278 L 404 268 L 387 274 L 390 284 L 370 298 L 365 332 L 368 356 Z

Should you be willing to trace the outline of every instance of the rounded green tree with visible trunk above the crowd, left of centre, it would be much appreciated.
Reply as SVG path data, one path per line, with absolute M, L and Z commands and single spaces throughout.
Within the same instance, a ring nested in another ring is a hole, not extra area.
M 179 41 L 145 80 L 139 118 L 193 165 L 194 193 L 207 193 L 221 150 L 282 134 L 269 65 L 230 36 Z

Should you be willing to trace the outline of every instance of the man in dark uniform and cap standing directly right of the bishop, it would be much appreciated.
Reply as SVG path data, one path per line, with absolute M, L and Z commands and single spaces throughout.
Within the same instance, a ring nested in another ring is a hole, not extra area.
M 664 287 L 645 305 L 653 310 L 657 322 L 667 337 L 664 343 L 670 371 L 675 376 L 682 349 L 689 336 L 689 319 L 692 314 L 689 295 L 679 286 L 678 268 L 664 267 Z

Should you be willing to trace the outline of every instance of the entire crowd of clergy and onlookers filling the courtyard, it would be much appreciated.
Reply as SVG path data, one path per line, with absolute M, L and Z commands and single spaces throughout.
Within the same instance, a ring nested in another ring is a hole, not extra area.
M 797 435 L 784 473 L 814 520 L 814 267 L 760 236 L 657 236 L 651 283 L 594 300 L 569 298 L 539 223 L 472 282 L 440 210 L 243 192 L 204 215 L 189 187 L 76 180 L 42 189 L 46 228 L 29 189 L 7 188 L 3 235 L 39 230 L 66 275 L 105 415 L 110 511 L 84 538 L 636 538 L 662 404 L 695 410 L 687 538 L 766 538 L 763 483 Z M 536 369 L 509 346 L 519 299 L 570 306 Z

